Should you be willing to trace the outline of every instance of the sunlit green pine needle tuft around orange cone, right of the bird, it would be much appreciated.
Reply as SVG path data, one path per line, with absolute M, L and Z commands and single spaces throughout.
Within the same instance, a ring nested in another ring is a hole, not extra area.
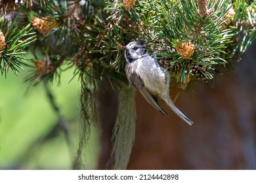
M 221 54 L 230 35 L 228 30 L 219 27 L 224 24 L 223 16 L 229 1 L 222 1 L 220 8 L 213 5 L 215 11 L 211 14 L 207 14 L 203 2 L 199 12 L 194 1 L 154 3 L 161 18 L 157 22 L 159 39 L 156 44 L 152 43 L 153 48 L 163 65 L 182 83 L 189 81 L 188 77 L 207 81 L 213 78 L 214 65 L 225 63 Z

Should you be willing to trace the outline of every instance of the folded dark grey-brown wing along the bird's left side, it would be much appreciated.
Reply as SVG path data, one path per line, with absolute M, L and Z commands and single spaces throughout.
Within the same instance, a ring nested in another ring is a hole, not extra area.
M 165 112 L 165 110 L 160 107 L 158 99 L 156 99 L 156 97 L 154 97 L 152 93 L 148 92 L 148 89 L 144 86 L 143 81 L 140 79 L 140 76 L 138 76 L 135 72 L 132 72 L 131 67 L 125 67 L 125 70 L 129 82 L 131 82 L 134 88 L 139 90 L 139 92 L 143 95 L 146 101 L 148 101 L 148 103 L 150 103 L 154 108 L 159 110 L 161 114 L 168 116 L 167 112 Z

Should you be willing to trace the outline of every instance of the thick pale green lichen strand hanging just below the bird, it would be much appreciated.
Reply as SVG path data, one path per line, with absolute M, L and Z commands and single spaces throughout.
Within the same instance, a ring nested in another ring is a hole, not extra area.
M 125 86 L 119 91 L 119 107 L 110 161 L 113 169 L 126 169 L 135 140 L 135 90 Z

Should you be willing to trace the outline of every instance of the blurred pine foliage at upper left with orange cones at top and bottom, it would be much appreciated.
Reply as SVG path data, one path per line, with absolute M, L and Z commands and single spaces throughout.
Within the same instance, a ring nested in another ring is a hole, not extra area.
M 35 50 L 42 50 L 45 58 L 33 61 L 32 67 L 35 71 L 26 81 L 33 80 L 37 84 L 45 77 L 52 81 L 54 76 L 59 76 L 62 63 L 70 63 L 71 58 L 78 52 L 81 28 L 90 8 L 88 5 L 81 7 L 79 1 L 33 2 L 33 10 L 28 14 L 28 20 L 38 32 L 39 40 L 35 44 Z M 73 65 L 76 65 L 75 61 L 70 67 Z

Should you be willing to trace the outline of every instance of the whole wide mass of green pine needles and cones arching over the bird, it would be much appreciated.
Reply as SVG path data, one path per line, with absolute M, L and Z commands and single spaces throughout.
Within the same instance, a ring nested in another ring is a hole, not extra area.
M 230 0 L 106 1 L 104 10 L 95 11 L 85 23 L 81 37 L 83 50 L 78 55 L 86 58 L 100 78 L 110 78 L 110 84 L 116 83 L 116 77 L 125 82 L 125 61 L 119 45 L 144 39 L 150 46 L 148 49 L 178 82 L 198 79 L 207 82 L 219 72 L 219 67 L 231 65 L 233 33 L 229 25 L 234 15 L 230 3 Z M 88 67 L 81 64 L 84 63 L 81 59 L 75 63 L 79 63 L 80 69 L 82 65 Z

